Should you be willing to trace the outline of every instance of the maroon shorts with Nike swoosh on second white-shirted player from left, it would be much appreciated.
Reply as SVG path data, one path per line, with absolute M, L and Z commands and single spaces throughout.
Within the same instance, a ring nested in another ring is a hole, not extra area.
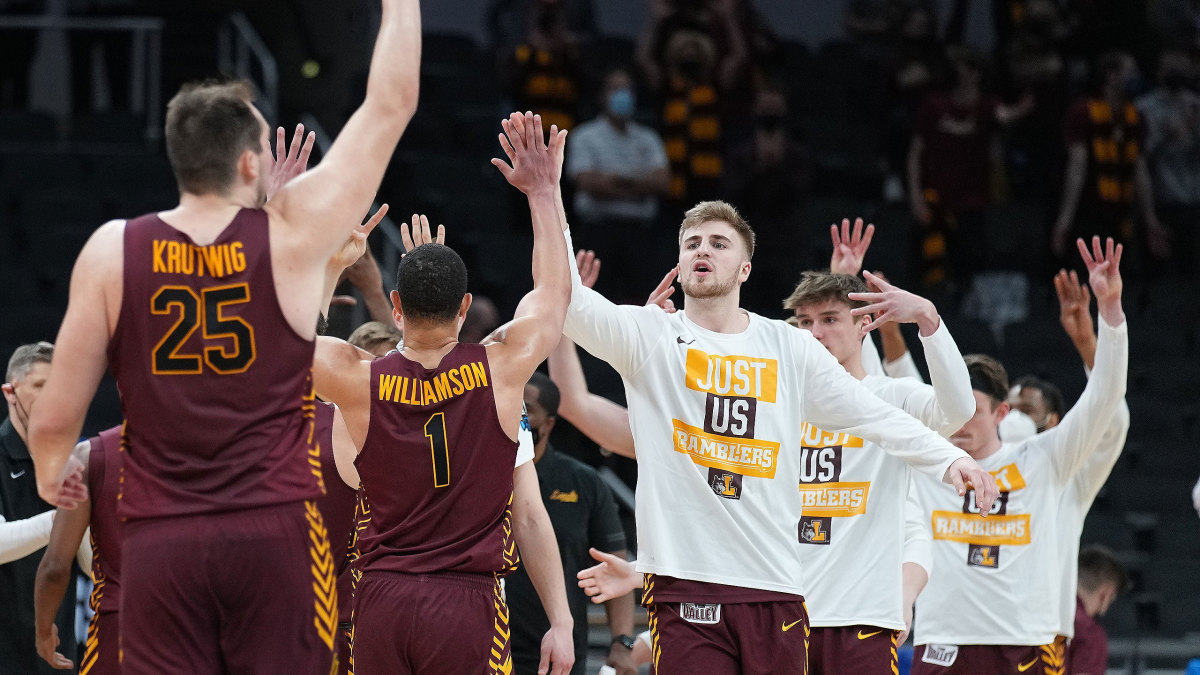
M 899 673 L 899 637 L 900 631 L 878 626 L 814 628 L 809 637 L 809 673 Z

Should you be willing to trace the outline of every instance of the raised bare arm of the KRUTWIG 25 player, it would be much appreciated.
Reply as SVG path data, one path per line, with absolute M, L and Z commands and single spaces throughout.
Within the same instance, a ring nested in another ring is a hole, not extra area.
M 362 104 L 320 165 L 292 180 L 266 209 L 300 228 L 316 261 L 337 251 L 374 198 L 401 135 L 416 110 L 421 13 L 418 0 L 383 0 Z

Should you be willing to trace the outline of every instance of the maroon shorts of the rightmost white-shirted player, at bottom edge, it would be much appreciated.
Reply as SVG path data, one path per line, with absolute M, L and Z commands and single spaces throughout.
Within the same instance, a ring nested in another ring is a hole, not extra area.
M 919 645 L 912 675 L 995 673 L 996 675 L 1062 675 L 1063 645 Z

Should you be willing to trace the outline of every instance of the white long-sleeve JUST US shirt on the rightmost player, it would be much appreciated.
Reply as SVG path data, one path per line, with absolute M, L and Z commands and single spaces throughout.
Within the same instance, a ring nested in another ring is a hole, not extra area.
M 1100 322 L 1096 372 L 1062 423 L 979 461 L 1001 498 L 980 519 L 974 494 L 918 483 L 934 539 L 916 644 L 1045 645 L 1060 631 L 1058 497 L 1100 443 L 1126 392 L 1127 324 Z

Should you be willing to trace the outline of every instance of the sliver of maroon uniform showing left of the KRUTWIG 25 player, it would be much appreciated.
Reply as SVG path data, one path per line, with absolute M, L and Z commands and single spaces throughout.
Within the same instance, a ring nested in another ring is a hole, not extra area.
M 88 494 L 91 500 L 91 579 L 88 643 L 79 661 L 80 675 L 121 671 L 121 521 L 116 498 L 121 484 L 121 428 L 88 440 Z

